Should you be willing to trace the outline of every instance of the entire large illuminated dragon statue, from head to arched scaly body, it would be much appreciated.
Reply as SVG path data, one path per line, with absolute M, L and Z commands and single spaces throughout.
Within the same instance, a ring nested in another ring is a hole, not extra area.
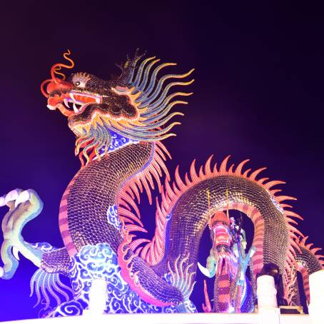
M 58 109 L 68 118 L 69 127 L 76 134 L 76 155 L 81 160 L 81 169 L 66 188 L 59 208 L 64 248 L 33 245 L 22 238 L 24 225 L 41 212 L 42 203 L 34 191 L 11 191 L 0 201 L 9 206 L 2 223 L 2 278 L 14 275 L 18 260 L 11 251 L 18 250 L 41 271 L 32 280 L 37 283 L 38 292 L 41 287 L 45 294 L 46 289 L 52 293 L 55 290 L 49 284 L 49 275 L 56 276 L 51 278 L 59 291 L 65 286 L 59 282 L 58 274 L 71 280 L 73 300 L 61 303 L 56 298 L 60 305 L 48 311 L 47 316 L 66 315 L 65 307 L 71 308 L 72 304 L 80 312 L 86 308 L 88 289 L 94 278 L 104 278 L 108 287 L 118 290 L 118 293 L 108 290 L 108 313 L 193 311 L 189 297 L 201 237 L 211 217 L 226 209 L 245 213 L 255 228 L 252 243 L 255 253 L 250 261 L 253 275 L 251 283 L 245 285 L 252 285 L 255 290 L 256 275 L 265 263 L 278 265 L 286 286 L 292 282 L 291 271 L 296 260 L 300 260 L 303 268 L 321 268 L 317 258 L 309 257 L 302 262 L 298 256 L 313 255 L 311 250 L 306 253 L 300 248 L 301 233 L 292 225 L 293 218 L 300 216 L 283 203 L 290 197 L 276 195 L 278 190 L 273 186 L 282 181 L 257 179 L 264 168 L 243 172 L 248 160 L 234 168 L 228 167 L 228 158 L 219 166 L 212 166 L 211 157 L 198 171 L 193 161 L 184 179 L 177 168 L 171 181 L 165 165 L 170 155 L 161 141 L 174 135 L 170 131 L 177 123 L 168 121 L 182 115 L 170 113 L 171 108 L 186 103 L 173 98 L 191 93 L 168 91 L 193 80 L 169 82 L 169 79 L 184 79 L 192 71 L 158 77 L 161 69 L 175 64 L 156 66 L 155 57 L 142 59 L 136 54 L 121 66 L 121 76 L 112 81 L 85 73 L 72 74 L 66 80 L 60 70 L 71 69 L 74 63 L 69 53 L 64 57 L 70 65 L 55 64 L 51 79 L 41 86 L 48 108 Z M 146 191 L 152 202 L 151 190 L 156 186 L 161 199 L 156 198 L 155 235 L 151 241 L 136 238 L 133 232 L 146 231 L 138 210 L 141 193 Z M 224 270 L 216 273 L 214 300 L 220 295 L 218 286 L 222 284 L 222 276 L 233 285 L 233 278 L 244 268 L 244 278 L 248 264 L 240 268 L 238 257 L 236 261 L 231 276 Z M 253 300 L 253 290 L 248 291 L 248 299 Z M 225 295 L 228 293 L 226 290 Z M 116 295 L 121 302 L 118 308 L 111 299 Z M 133 303 L 137 306 L 131 307 L 126 300 L 137 300 Z M 229 309 L 229 305 L 223 309 L 218 306 L 214 311 Z M 239 303 L 236 311 L 244 311 L 241 306 Z

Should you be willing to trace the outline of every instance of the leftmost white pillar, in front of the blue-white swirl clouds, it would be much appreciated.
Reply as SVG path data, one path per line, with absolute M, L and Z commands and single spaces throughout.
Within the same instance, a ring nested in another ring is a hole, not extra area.
M 104 279 L 93 279 L 89 292 L 89 305 L 83 315 L 102 315 L 106 308 L 107 283 Z

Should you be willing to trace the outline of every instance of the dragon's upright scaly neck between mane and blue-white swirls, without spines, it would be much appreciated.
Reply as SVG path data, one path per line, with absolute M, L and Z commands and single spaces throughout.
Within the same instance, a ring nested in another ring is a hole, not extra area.
M 123 241 L 118 199 L 125 196 L 128 181 L 145 172 L 152 161 L 153 143 L 113 136 L 108 153 L 81 168 L 61 200 L 59 226 L 70 256 L 84 245 L 101 242 L 118 249 Z

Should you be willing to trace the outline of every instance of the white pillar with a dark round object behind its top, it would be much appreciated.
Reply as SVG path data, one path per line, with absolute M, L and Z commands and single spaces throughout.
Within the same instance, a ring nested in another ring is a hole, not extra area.
M 260 275 L 257 279 L 259 323 L 279 324 L 280 310 L 277 305 L 275 280 L 271 275 Z

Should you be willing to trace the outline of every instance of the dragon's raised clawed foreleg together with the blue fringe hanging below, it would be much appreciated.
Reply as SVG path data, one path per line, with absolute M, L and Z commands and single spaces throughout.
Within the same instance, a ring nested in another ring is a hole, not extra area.
M 2 221 L 4 242 L 1 245 L 1 259 L 4 267 L 0 268 L 2 279 L 11 279 L 19 265 L 19 253 L 31 260 L 36 267 L 31 278 L 31 295 L 36 293 L 37 303 L 43 303 L 40 315 L 44 316 L 51 310 L 51 300 L 60 305 L 70 299 L 73 291 L 61 282 L 60 274 L 67 275 L 69 255 L 66 249 L 56 249 L 49 243 L 27 243 L 21 236 L 26 223 L 41 213 L 43 203 L 37 193 L 31 189 L 16 189 L 0 198 L 0 206 L 8 206 L 9 211 Z M 35 306 L 36 306 L 35 305 Z

